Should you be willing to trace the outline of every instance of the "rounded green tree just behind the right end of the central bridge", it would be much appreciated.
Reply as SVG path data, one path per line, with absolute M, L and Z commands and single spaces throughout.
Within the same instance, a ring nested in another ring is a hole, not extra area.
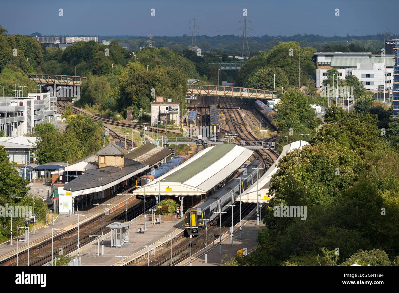
M 274 90 L 275 87 L 287 88 L 288 78 L 285 72 L 280 68 L 259 69 L 248 79 L 246 86 L 249 88 L 260 88 L 264 90 Z

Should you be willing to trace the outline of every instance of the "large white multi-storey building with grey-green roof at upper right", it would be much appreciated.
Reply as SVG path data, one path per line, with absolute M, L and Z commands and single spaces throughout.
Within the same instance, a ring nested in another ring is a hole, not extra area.
M 340 73 L 340 78 L 355 75 L 366 90 L 391 90 L 393 87 L 393 55 L 372 55 L 365 53 L 314 53 L 316 62 L 316 87 L 323 86 L 327 79 L 328 69 L 335 68 Z M 385 78 L 384 78 L 385 77 Z M 330 85 L 332 87 L 333 85 Z

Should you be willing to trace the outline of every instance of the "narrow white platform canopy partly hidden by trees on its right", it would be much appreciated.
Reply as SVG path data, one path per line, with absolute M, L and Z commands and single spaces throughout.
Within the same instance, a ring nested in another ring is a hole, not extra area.
M 246 191 L 243 192 L 241 197 L 237 198 L 237 201 L 242 201 L 243 203 L 266 203 L 269 201 L 270 197 L 268 196 L 269 185 L 272 176 L 279 170 L 277 167 L 280 159 L 284 157 L 286 153 L 292 151 L 293 149 L 302 149 L 303 146 L 306 146 L 308 143 L 303 140 L 298 140 L 297 142 L 292 142 L 290 144 L 285 145 L 282 148 L 282 152 L 277 158 L 277 160 L 267 169 L 266 173 L 263 174 L 261 178 L 259 178 L 259 184 L 255 182 L 255 184 L 251 185 Z M 259 192 L 258 192 L 259 191 Z M 259 198 L 257 198 L 257 194 Z

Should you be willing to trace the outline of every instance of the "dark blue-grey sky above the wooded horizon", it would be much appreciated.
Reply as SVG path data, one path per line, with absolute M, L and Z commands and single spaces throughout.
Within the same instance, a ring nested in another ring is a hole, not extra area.
M 398 0 L 0 0 L 0 25 L 29 35 L 398 34 Z M 59 16 L 59 9 L 63 16 Z M 151 10 L 155 16 L 151 16 Z M 337 9 L 339 11 L 337 11 Z M 339 12 L 339 16 L 336 16 Z M 241 21 L 241 22 L 240 22 Z

